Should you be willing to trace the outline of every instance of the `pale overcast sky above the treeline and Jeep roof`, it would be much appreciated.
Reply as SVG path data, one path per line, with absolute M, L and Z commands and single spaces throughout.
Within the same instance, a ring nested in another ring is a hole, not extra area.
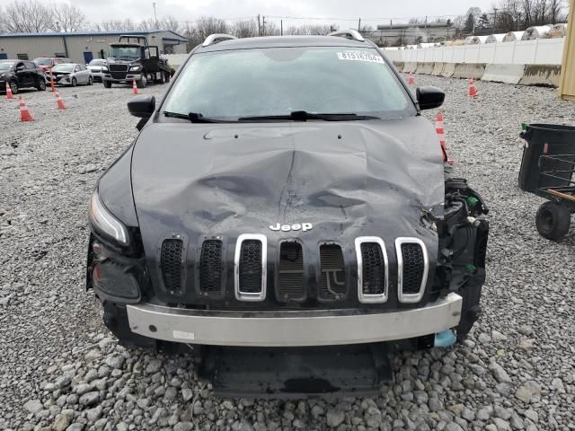
M 8 0 L 0 0 L 0 4 Z M 74 0 L 73 4 L 84 10 L 90 22 L 124 20 L 140 21 L 154 17 L 152 0 Z M 357 26 L 362 23 L 387 23 L 390 18 L 398 21 L 402 17 L 424 17 L 425 15 L 459 15 L 471 6 L 491 11 L 499 0 L 156 0 L 158 19 L 164 15 L 174 15 L 181 22 L 193 21 L 201 15 L 214 15 L 221 18 L 247 18 L 257 15 L 268 17 L 322 17 L 338 20 L 321 20 Z M 279 18 L 269 18 L 279 22 Z M 284 25 L 319 22 L 316 20 L 284 19 Z M 354 23 L 355 22 L 355 23 Z

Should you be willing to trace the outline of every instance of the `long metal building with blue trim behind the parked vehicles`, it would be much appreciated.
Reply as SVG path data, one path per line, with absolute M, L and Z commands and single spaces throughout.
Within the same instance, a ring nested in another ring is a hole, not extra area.
M 109 44 L 117 42 L 120 34 L 146 36 L 148 45 L 157 46 L 161 54 L 186 53 L 186 38 L 167 30 L 8 33 L 0 34 L 0 59 L 68 57 L 75 63 L 89 63 L 105 58 Z

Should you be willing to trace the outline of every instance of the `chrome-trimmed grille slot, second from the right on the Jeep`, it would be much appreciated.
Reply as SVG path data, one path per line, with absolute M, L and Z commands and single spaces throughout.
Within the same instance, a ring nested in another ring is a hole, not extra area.
M 385 242 L 374 236 L 356 238 L 358 299 L 361 303 L 387 301 L 388 262 Z

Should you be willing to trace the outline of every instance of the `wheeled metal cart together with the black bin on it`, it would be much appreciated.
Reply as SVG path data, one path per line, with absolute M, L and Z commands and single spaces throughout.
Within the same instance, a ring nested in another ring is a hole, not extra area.
M 529 125 L 519 172 L 519 187 L 548 199 L 535 216 L 537 231 L 549 240 L 569 232 L 575 213 L 575 127 Z

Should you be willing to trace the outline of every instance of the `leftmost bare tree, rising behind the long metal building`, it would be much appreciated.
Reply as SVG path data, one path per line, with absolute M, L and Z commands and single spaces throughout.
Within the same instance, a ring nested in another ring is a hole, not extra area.
M 2 25 L 9 33 L 38 33 L 49 30 L 51 15 L 50 9 L 37 0 L 13 1 L 2 11 Z

